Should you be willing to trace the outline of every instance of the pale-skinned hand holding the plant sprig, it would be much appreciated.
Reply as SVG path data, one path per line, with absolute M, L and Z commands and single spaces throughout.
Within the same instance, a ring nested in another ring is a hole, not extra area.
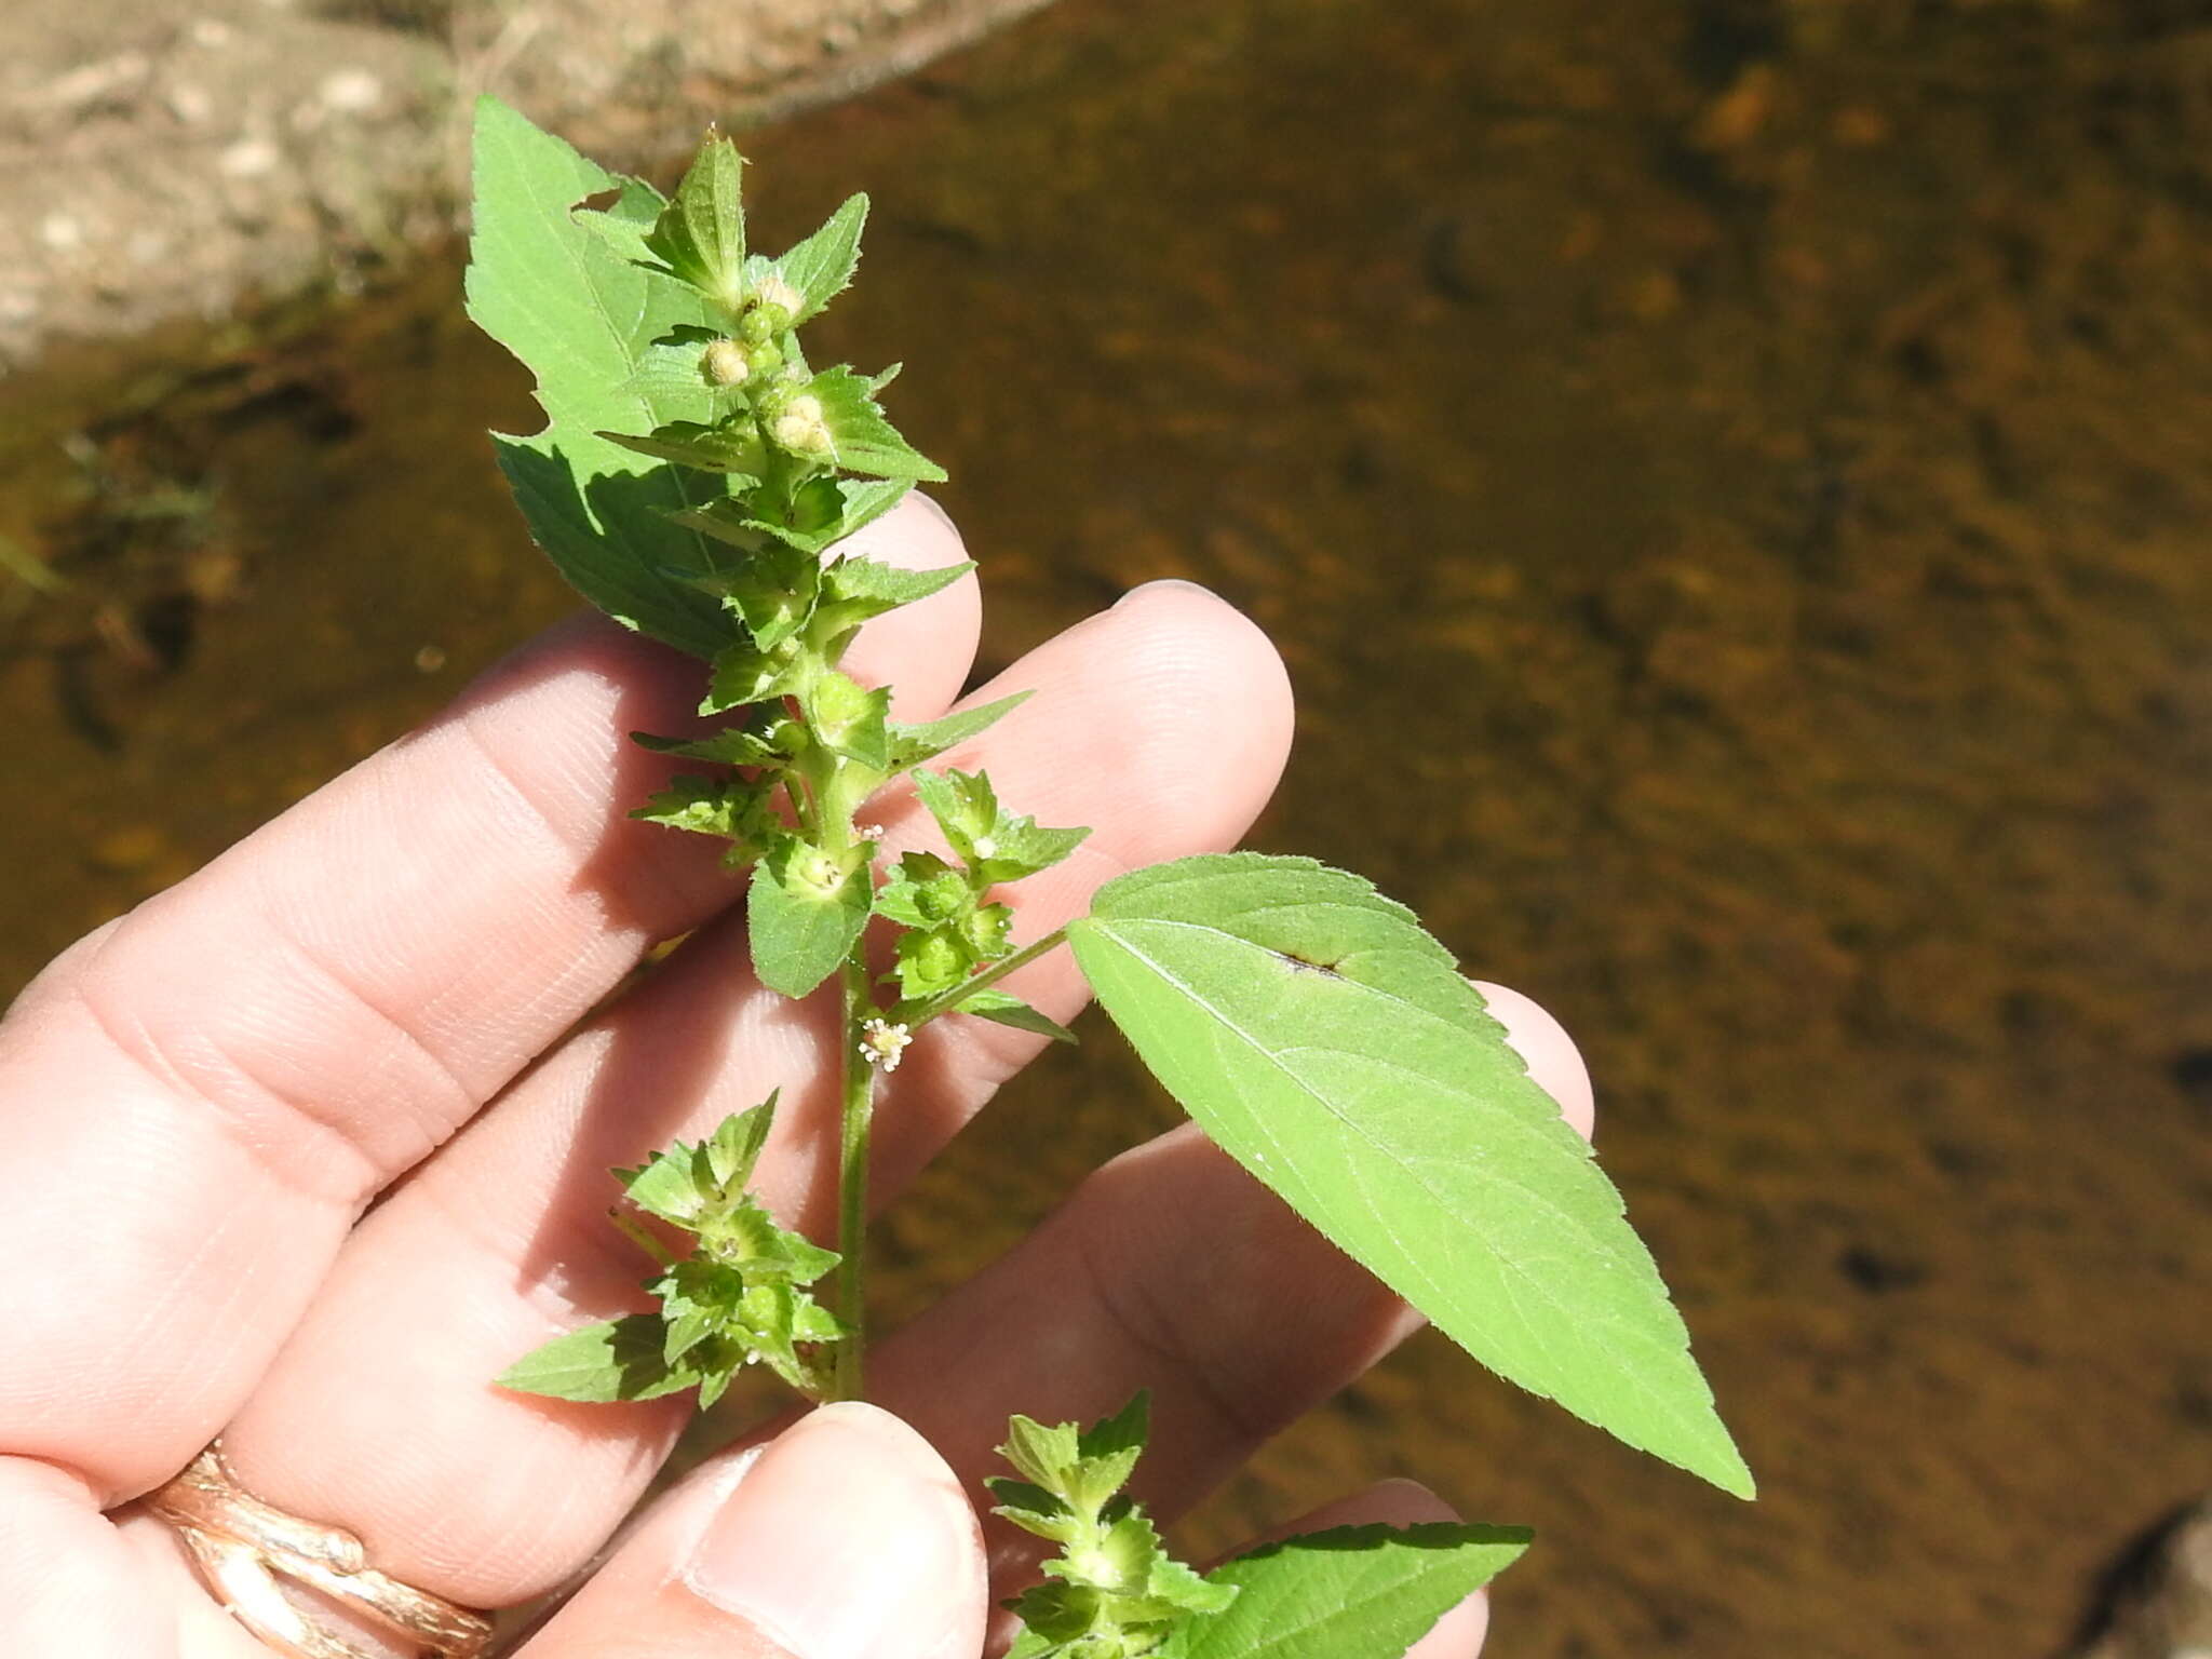
M 900 564 L 962 557 L 920 500 L 863 535 Z M 896 688 L 896 719 L 931 719 L 978 622 L 969 577 L 869 624 L 849 666 Z M 951 759 L 1013 810 L 1095 832 L 1006 891 L 1018 938 L 1121 869 L 1234 845 L 1290 745 L 1274 650 L 1183 584 L 1139 588 L 975 699 L 1024 688 Z M 834 1002 L 754 984 L 719 843 L 624 816 L 666 772 L 624 734 L 681 730 L 692 701 L 697 664 L 611 624 L 557 628 L 64 951 L 0 1022 L 0 1650 L 265 1659 L 133 1509 L 217 1433 L 250 1491 L 467 1606 L 524 1604 L 602 1555 L 686 1405 L 562 1405 L 491 1378 L 639 1305 L 606 1168 L 781 1086 L 757 1188 L 787 1225 L 834 1232 Z M 931 845 L 902 794 L 867 816 L 891 854 Z M 1013 989 L 1057 1020 L 1084 1000 L 1066 953 Z M 1588 1130 L 1564 1031 L 1484 989 Z M 922 1031 L 883 1086 L 876 1201 L 1040 1046 L 960 1018 Z M 883 1338 L 874 1405 L 701 1469 L 518 1652 L 973 1659 L 1031 1559 L 975 1520 L 1011 1411 L 1088 1420 L 1150 1387 L 1137 1495 L 1170 1522 L 1413 1327 L 1177 1130 Z M 1444 1517 L 1387 1482 L 1310 1520 Z M 1462 1606 L 1416 1659 L 1471 1659 L 1484 1621 Z

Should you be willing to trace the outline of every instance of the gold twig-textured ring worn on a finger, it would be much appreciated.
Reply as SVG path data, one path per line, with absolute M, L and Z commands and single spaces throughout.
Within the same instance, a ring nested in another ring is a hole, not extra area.
M 376 1655 L 316 1624 L 281 1579 L 411 1641 L 418 1655 L 480 1659 L 491 1646 L 491 1619 L 482 1613 L 385 1577 L 343 1526 L 285 1515 L 246 1491 L 223 1462 L 221 1440 L 150 1493 L 146 1506 L 177 1528 L 223 1610 L 288 1659 Z

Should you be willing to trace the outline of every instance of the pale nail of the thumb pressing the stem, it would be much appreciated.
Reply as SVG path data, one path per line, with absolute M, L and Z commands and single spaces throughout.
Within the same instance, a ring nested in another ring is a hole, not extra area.
M 787 1429 L 684 1573 L 794 1659 L 927 1659 L 982 1606 L 975 1517 L 898 1418 L 827 1405 Z

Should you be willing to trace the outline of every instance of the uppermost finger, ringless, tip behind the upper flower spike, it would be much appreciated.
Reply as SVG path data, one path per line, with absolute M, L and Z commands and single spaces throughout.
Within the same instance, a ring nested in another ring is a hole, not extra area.
M 942 515 L 869 551 L 960 557 Z M 885 626 L 889 624 L 889 626 Z M 856 650 L 909 717 L 958 690 L 973 584 Z M 0 1451 L 108 1502 L 237 1409 L 361 1203 L 732 896 L 703 838 L 626 812 L 699 664 L 557 630 L 447 714 L 69 951 L 0 1024 Z M 69 1263 L 38 1272 L 40 1263 Z

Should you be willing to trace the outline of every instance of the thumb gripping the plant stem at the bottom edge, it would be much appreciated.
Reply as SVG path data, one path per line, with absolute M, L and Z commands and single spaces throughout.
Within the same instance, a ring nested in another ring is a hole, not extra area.
M 987 1595 L 945 1460 L 827 1405 L 681 1489 L 520 1659 L 975 1659 Z

